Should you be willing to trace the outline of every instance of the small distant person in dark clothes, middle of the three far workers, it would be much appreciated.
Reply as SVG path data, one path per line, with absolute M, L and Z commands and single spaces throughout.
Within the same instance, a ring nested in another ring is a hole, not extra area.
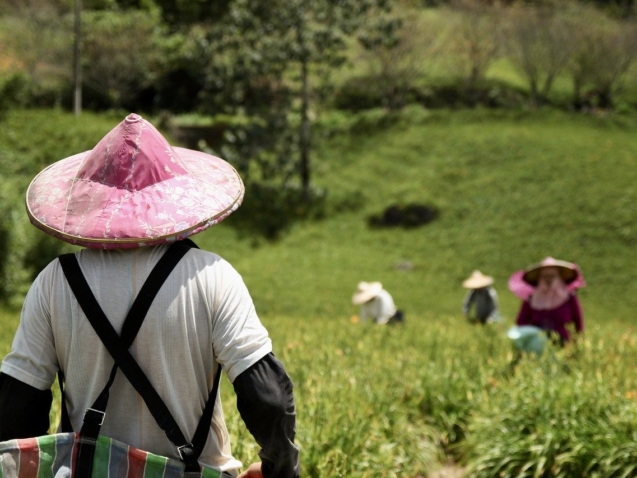
M 476 270 L 462 282 L 462 287 L 469 289 L 462 305 L 467 320 L 481 324 L 500 320 L 498 294 L 493 288 L 493 277 Z

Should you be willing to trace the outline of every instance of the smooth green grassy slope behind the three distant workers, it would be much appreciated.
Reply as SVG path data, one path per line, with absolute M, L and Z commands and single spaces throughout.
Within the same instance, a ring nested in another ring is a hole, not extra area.
M 243 273 L 262 314 L 347 316 L 359 280 L 382 281 L 408 320 L 457 314 L 460 282 L 479 268 L 495 276 L 512 318 L 518 301 L 507 278 L 553 255 L 582 266 L 590 321 L 632 320 L 633 121 L 548 111 L 411 111 L 389 126 L 379 121 L 315 140 L 316 183 L 332 197 L 358 196 L 360 210 L 298 225 L 256 249 L 236 241 L 232 217 L 199 236 Z M 413 230 L 367 227 L 369 214 L 411 201 L 437 205 L 440 218 Z M 404 261 L 413 270 L 395 267 Z

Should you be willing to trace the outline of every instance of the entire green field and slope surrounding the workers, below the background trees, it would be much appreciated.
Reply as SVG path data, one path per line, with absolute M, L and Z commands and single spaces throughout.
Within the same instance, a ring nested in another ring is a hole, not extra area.
M 9 113 L 1 210 L 14 232 L 2 249 L 14 262 L 50 254 L 33 247 L 39 236 L 22 210 L 30 177 L 119 120 Z M 297 222 L 274 242 L 246 237 L 232 216 L 195 237 L 242 274 L 295 383 L 304 476 L 425 477 L 448 459 L 470 477 L 634 476 L 635 118 L 408 108 L 334 113 L 319 126 L 312 164 L 327 191 L 324 219 Z M 434 205 L 439 218 L 368 227 L 369 215 L 411 202 Z M 547 255 L 584 271 L 585 335 L 517 360 L 505 332 L 519 300 L 506 281 Z M 28 285 L 12 264 L 3 355 Z M 502 323 L 462 317 L 460 284 L 474 269 L 495 277 Z M 360 280 L 383 282 L 404 326 L 357 322 L 350 299 Z M 225 379 L 222 394 L 237 457 L 257 460 Z

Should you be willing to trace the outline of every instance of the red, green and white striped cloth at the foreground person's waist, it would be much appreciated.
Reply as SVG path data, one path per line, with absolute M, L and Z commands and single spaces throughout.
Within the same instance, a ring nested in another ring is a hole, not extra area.
M 2 478 L 71 478 L 79 433 L 58 433 L 0 443 Z M 180 460 L 154 455 L 100 435 L 93 461 L 97 478 L 181 478 Z M 202 478 L 220 478 L 219 471 L 203 467 Z

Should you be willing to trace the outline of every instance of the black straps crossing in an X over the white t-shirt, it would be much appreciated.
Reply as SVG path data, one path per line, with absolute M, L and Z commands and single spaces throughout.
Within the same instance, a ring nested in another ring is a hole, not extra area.
M 126 320 L 124 321 L 121 337 L 117 335 L 117 332 L 97 303 L 95 296 L 82 274 L 82 270 L 79 267 L 75 255 L 66 254 L 60 256 L 60 263 L 80 307 L 95 329 L 95 332 L 104 343 L 104 346 L 115 360 L 108 383 L 95 401 L 94 405 L 86 411 L 80 436 L 86 436 L 89 438 L 89 440 L 86 440 L 89 443 L 94 442 L 97 438 L 104 418 L 104 411 L 106 410 L 106 405 L 108 403 L 109 389 L 115 379 L 117 368 L 119 367 L 122 369 L 131 385 L 133 385 L 135 390 L 137 390 L 137 392 L 142 396 L 159 427 L 164 430 L 168 439 L 177 447 L 179 455 L 186 465 L 186 472 L 198 473 L 200 471 L 200 467 L 197 459 L 203 451 L 208 431 L 210 429 L 214 402 L 219 388 L 221 367 L 218 367 L 215 382 L 213 384 L 213 390 L 210 393 L 201 420 L 197 426 L 197 431 L 193 437 L 193 443 L 191 444 L 186 440 L 165 403 L 162 401 L 161 397 L 159 397 L 157 391 L 154 389 L 142 369 L 128 351 L 157 292 L 175 265 L 191 247 L 196 247 L 196 245 L 187 239 L 172 244 L 168 251 L 166 251 L 166 254 L 164 254 L 157 263 L 135 299 Z M 90 452 L 90 450 L 87 451 Z M 94 445 L 92 453 L 94 453 Z M 81 447 L 80 452 L 78 452 L 78 473 L 81 472 L 79 464 L 80 454 Z M 86 467 L 87 469 L 85 471 L 88 474 L 85 476 L 90 476 L 90 470 L 92 470 L 92 456 L 90 460 L 84 460 L 84 462 L 89 461 L 90 469 L 88 466 Z M 80 473 L 76 476 L 80 478 L 84 475 Z

